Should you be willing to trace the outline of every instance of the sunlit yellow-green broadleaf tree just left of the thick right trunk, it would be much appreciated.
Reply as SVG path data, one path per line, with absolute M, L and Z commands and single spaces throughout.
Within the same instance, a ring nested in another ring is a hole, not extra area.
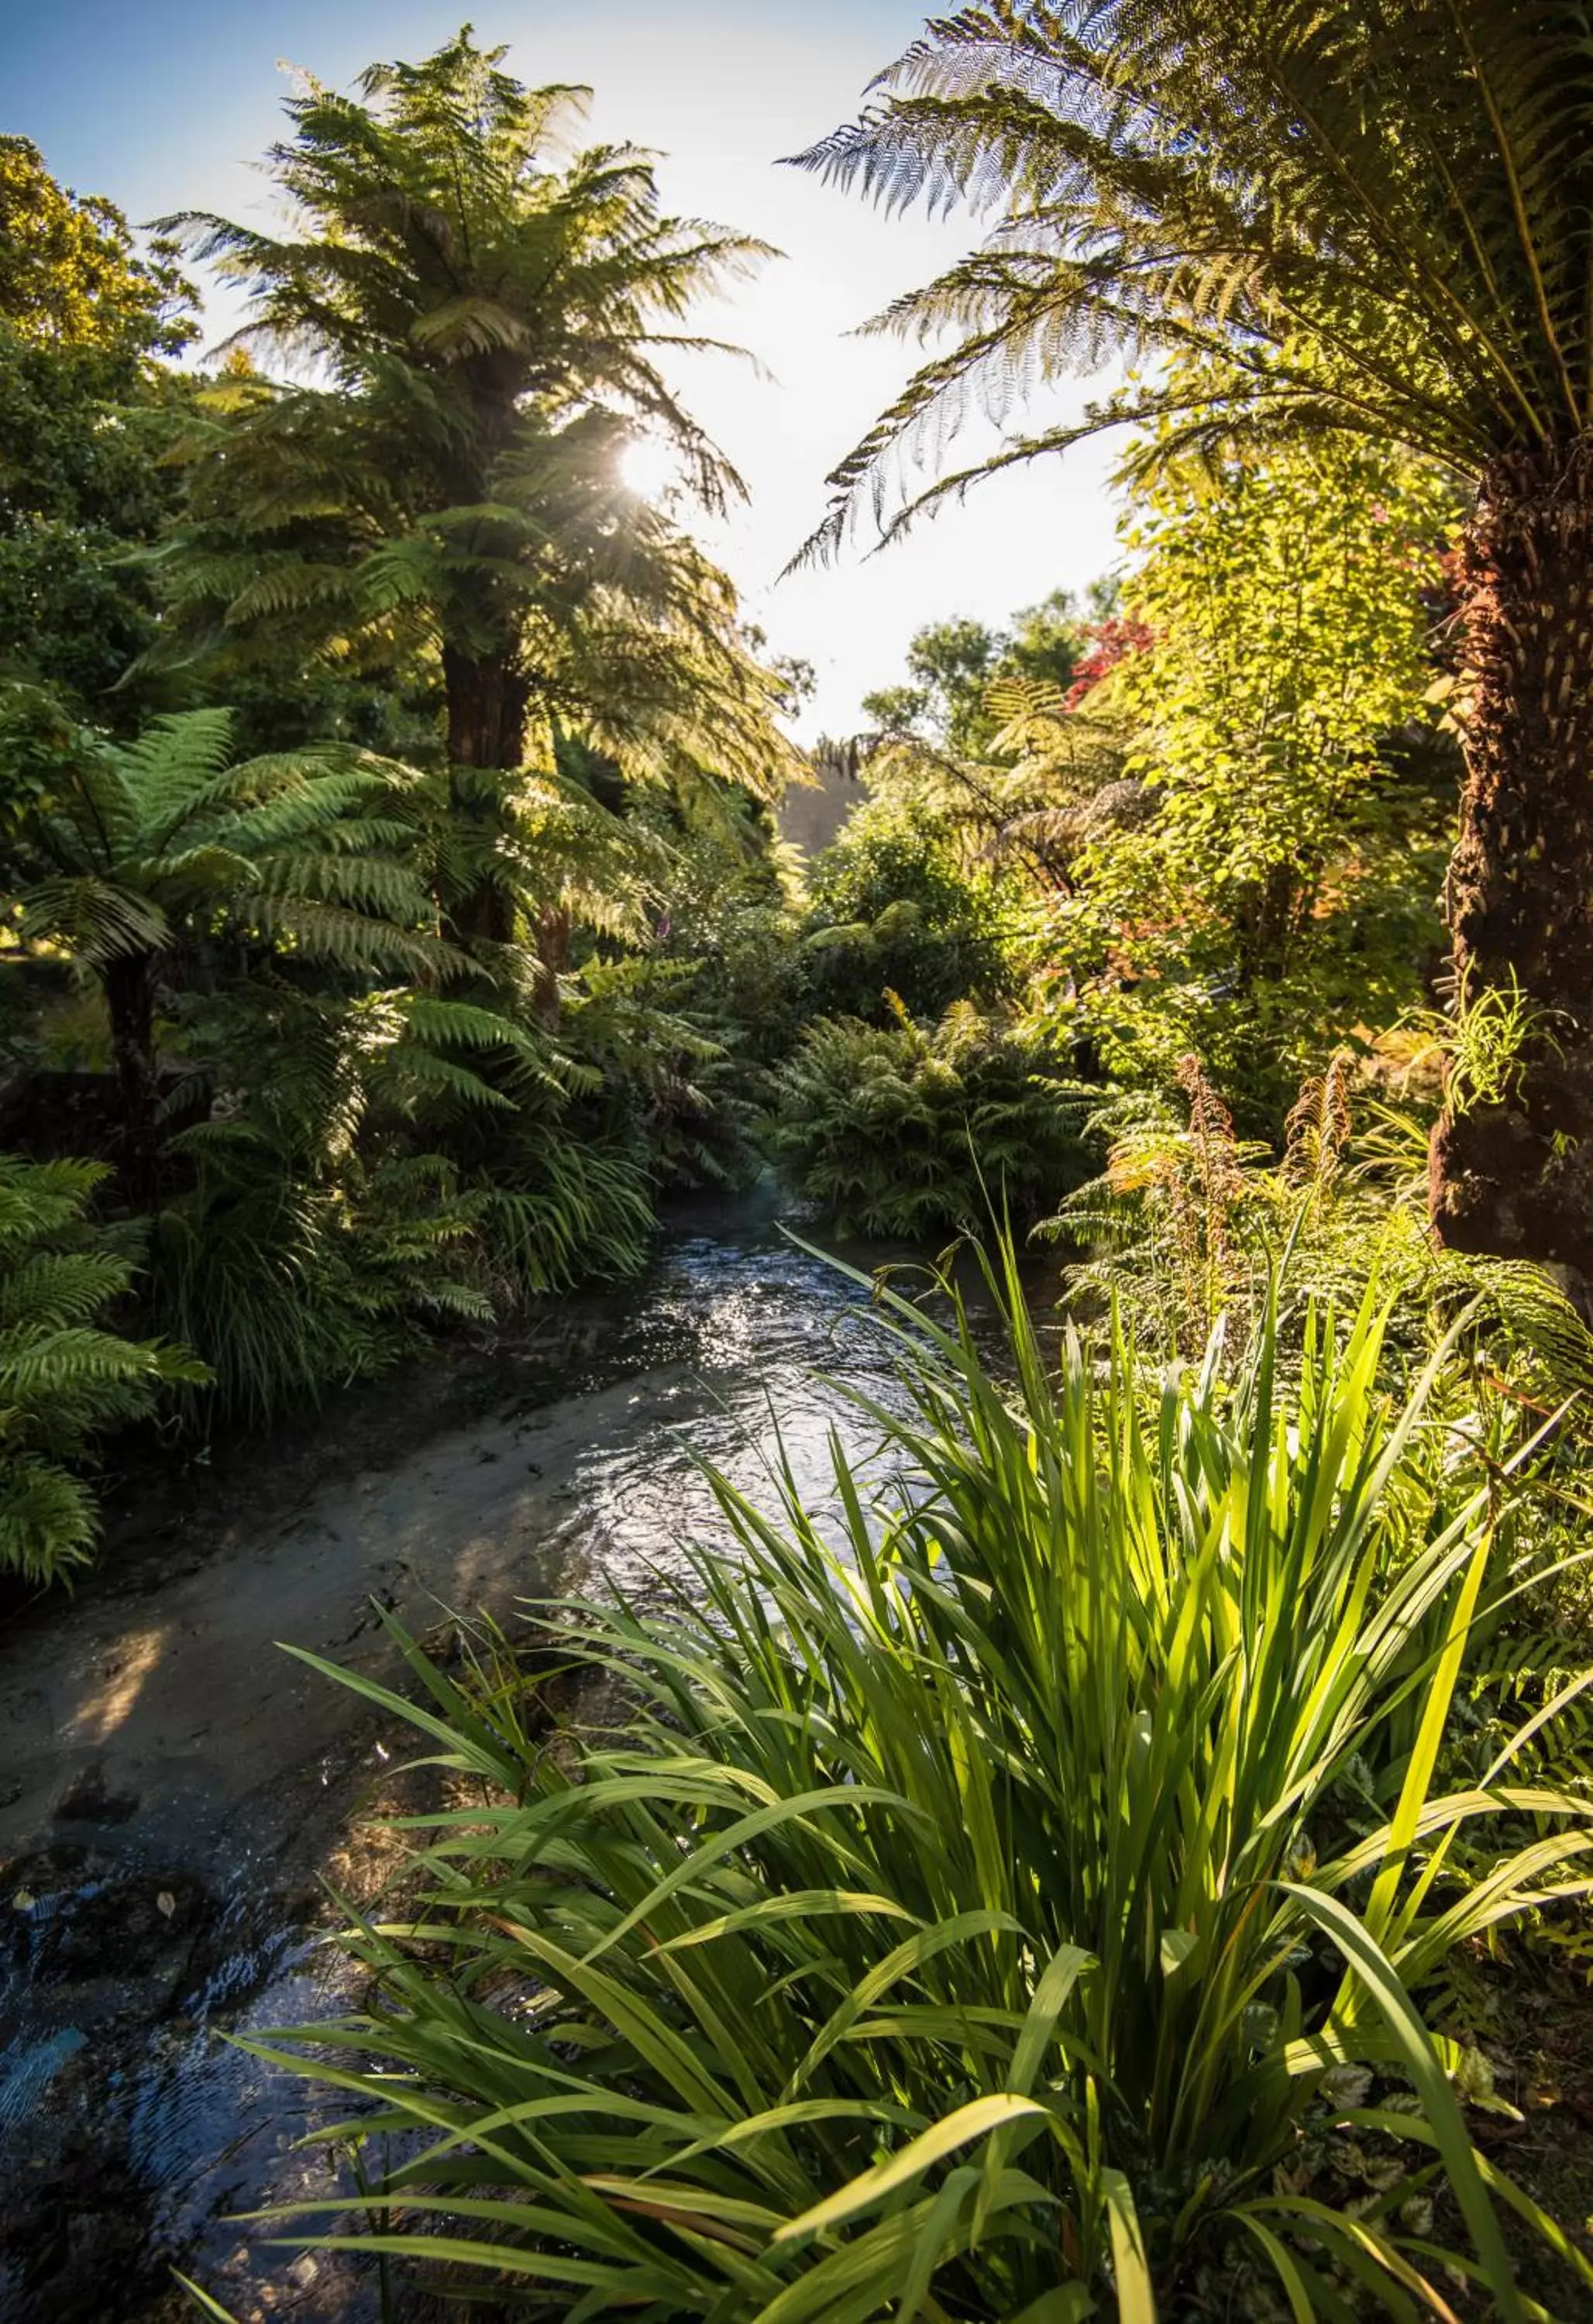
M 1428 462 L 1333 437 L 1163 469 L 1126 528 L 1137 644 L 1086 700 L 1130 734 L 1142 820 L 1077 860 L 1091 1013 L 1135 1078 L 1198 1048 L 1246 1134 L 1277 1136 L 1300 1076 L 1423 999 L 1440 955 L 1449 521 Z

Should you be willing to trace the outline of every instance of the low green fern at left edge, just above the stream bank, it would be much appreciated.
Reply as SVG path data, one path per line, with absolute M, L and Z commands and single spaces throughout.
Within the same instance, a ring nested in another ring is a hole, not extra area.
M 209 1378 L 184 1348 L 105 1327 L 135 1267 L 88 1220 L 95 1162 L 0 1155 L 0 1573 L 67 1580 L 100 1511 L 95 1436 L 147 1418 L 163 1383 Z

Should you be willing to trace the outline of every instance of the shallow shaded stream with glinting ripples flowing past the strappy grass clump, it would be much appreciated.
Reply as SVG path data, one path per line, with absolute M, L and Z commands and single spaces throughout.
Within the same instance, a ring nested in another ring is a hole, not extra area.
M 237 2224 L 335 2185 L 298 2140 L 342 2108 L 223 2036 L 356 1999 L 326 1885 L 370 1887 L 402 1748 L 272 1641 L 388 1676 L 372 1599 L 426 1634 L 644 1592 L 721 1532 L 698 1459 L 767 1499 L 779 1446 L 823 1501 L 830 1429 L 867 1436 L 846 1385 L 893 1394 L 867 1290 L 765 1195 L 677 1220 L 626 1294 L 128 1483 L 95 1580 L 0 1634 L 0 2317 L 186 2315 L 172 2266 L 240 2319 L 379 2315 Z

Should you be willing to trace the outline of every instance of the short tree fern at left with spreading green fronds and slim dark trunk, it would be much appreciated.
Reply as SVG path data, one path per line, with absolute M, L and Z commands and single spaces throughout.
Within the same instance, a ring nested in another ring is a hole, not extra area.
M 233 765 L 230 741 L 228 711 L 114 744 L 37 700 L 14 704 L 0 734 L 0 769 L 44 769 L 12 858 L 16 930 L 67 946 L 105 992 L 140 1199 L 156 1169 L 160 983 L 226 916 L 344 969 L 449 962 L 395 853 L 409 839 L 391 804 L 405 772 L 337 746 Z

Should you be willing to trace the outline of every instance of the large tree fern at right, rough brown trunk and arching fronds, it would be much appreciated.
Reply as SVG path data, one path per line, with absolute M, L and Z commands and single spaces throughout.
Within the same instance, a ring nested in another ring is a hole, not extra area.
M 1463 479 L 1467 776 L 1456 997 L 1519 990 L 1519 1069 L 1435 1132 L 1467 1250 L 1593 1276 L 1593 51 L 1567 0 L 991 0 L 802 165 L 886 202 L 995 209 L 881 328 L 928 358 L 835 469 L 819 546 L 970 397 L 1151 358 L 1081 418 L 902 500 L 1123 418 L 1158 451 L 1351 432 Z M 1165 353 L 1202 363 L 1167 372 Z

